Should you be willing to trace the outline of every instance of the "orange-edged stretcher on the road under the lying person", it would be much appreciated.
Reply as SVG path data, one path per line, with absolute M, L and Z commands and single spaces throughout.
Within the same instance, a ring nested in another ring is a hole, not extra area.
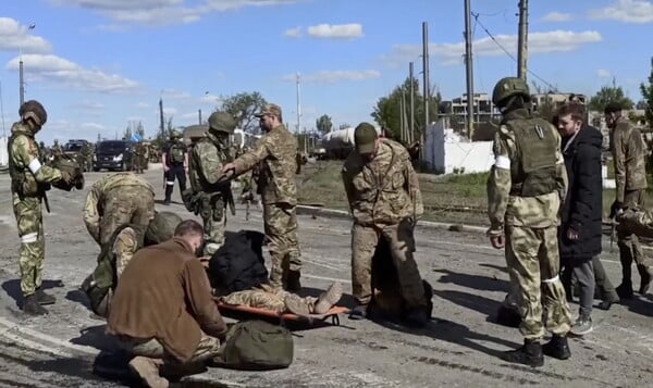
M 309 325 L 317 325 L 321 323 L 328 323 L 331 321 L 331 325 L 340 326 L 340 314 L 348 314 L 349 309 L 342 305 L 334 305 L 324 314 L 309 314 L 298 315 L 293 313 L 278 313 L 275 311 L 250 308 L 248 305 L 241 304 L 227 304 L 220 300 L 215 301 L 218 309 L 224 315 L 247 315 L 256 316 L 259 318 L 278 320 L 280 323 L 306 323 Z

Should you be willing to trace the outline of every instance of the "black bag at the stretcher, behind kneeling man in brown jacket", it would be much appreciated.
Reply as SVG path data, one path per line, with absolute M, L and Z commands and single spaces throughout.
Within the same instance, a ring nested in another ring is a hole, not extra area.
M 262 253 L 264 237 L 255 230 L 225 234 L 224 245 L 209 260 L 207 272 L 219 295 L 247 290 L 268 281 Z

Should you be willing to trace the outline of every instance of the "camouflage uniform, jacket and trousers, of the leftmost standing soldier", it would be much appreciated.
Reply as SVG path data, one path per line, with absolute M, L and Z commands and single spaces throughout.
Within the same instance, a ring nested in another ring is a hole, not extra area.
M 40 150 L 28 126 L 14 123 L 9 140 L 9 173 L 21 248 L 21 291 L 33 295 L 41 286 L 46 241 L 41 200 L 45 184 L 61 179 L 61 172 L 39 162 Z

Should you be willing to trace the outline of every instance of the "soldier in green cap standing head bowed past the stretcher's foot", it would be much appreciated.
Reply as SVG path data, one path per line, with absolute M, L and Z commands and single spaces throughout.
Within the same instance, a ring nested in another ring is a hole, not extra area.
M 369 123 L 360 123 L 355 132 L 356 148 L 347 157 L 342 171 L 352 228 L 352 289 L 358 305 L 350 318 L 368 316 L 372 298 L 372 256 L 380 239 L 389 242 L 390 253 L 399 278 L 398 286 L 406 302 L 408 324 L 423 326 L 429 321 L 428 301 L 417 263 L 414 228 L 423 213 L 417 174 L 406 148 L 380 138 Z

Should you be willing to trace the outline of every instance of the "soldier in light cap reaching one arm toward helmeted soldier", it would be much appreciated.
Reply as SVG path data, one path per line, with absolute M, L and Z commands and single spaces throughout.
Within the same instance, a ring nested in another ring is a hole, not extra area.
M 233 171 L 241 175 L 258 168 L 257 188 L 263 202 L 263 223 L 268 247 L 272 256 L 270 285 L 284 287 L 288 291 L 298 290 L 301 260 L 297 241 L 297 140 L 284 127 L 281 108 L 266 104 L 260 113 L 261 137 L 255 148 L 241 155 L 233 163 L 222 167 L 223 173 Z

